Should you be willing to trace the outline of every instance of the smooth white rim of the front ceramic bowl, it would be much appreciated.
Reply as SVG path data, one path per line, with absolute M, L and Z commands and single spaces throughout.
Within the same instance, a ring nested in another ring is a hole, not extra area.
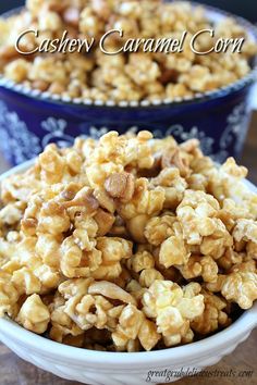
M 32 159 L 15 167 L 12 167 L 11 170 L 0 175 L 0 183 L 11 175 L 25 172 L 34 163 L 35 159 Z M 250 190 L 257 191 L 257 187 L 249 181 L 246 179 L 245 184 Z M 33 350 L 40 350 L 47 356 L 58 355 L 58 357 L 63 360 L 76 359 L 79 362 L 90 362 L 93 364 L 99 364 L 99 362 L 102 362 L 102 368 L 105 365 L 109 368 L 110 364 L 119 364 L 123 365 L 124 368 L 131 365 L 134 368 L 142 368 L 144 364 L 161 364 L 163 360 L 179 361 L 188 359 L 188 361 L 191 361 L 194 360 L 194 357 L 204 358 L 206 357 L 206 353 L 216 352 L 222 348 L 229 348 L 230 343 L 232 344 L 236 337 L 247 335 L 247 333 L 249 333 L 256 326 L 257 301 L 254 303 L 252 309 L 245 310 L 243 314 L 229 327 L 198 341 L 161 350 L 127 353 L 77 348 L 57 343 L 44 336 L 37 335 L 30 331 L 27 331 L 8 316 L 0 319 L 0 339 L 1 335 L 7 335 Z

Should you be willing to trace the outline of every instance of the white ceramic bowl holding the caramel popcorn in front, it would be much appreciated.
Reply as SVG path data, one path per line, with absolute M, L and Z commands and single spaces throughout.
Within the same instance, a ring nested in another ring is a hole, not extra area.
M 0 176 L 25 171 L 26 162 Z M 256 188 L 247 182 L 250 189 Z M 146 352 L 103 352 L 61 345 L 7 319 L 0 320 L 0 339 L 24 360 L 60 377 L 94 385 L 168 383 L 217 363 L 244 341 L 257 326 L 257 303 L 231 326 L 200 341 Z M 173 371 L 173 375 L 172 375 Z M 179 375 L 179 376 L 178 376 Z

